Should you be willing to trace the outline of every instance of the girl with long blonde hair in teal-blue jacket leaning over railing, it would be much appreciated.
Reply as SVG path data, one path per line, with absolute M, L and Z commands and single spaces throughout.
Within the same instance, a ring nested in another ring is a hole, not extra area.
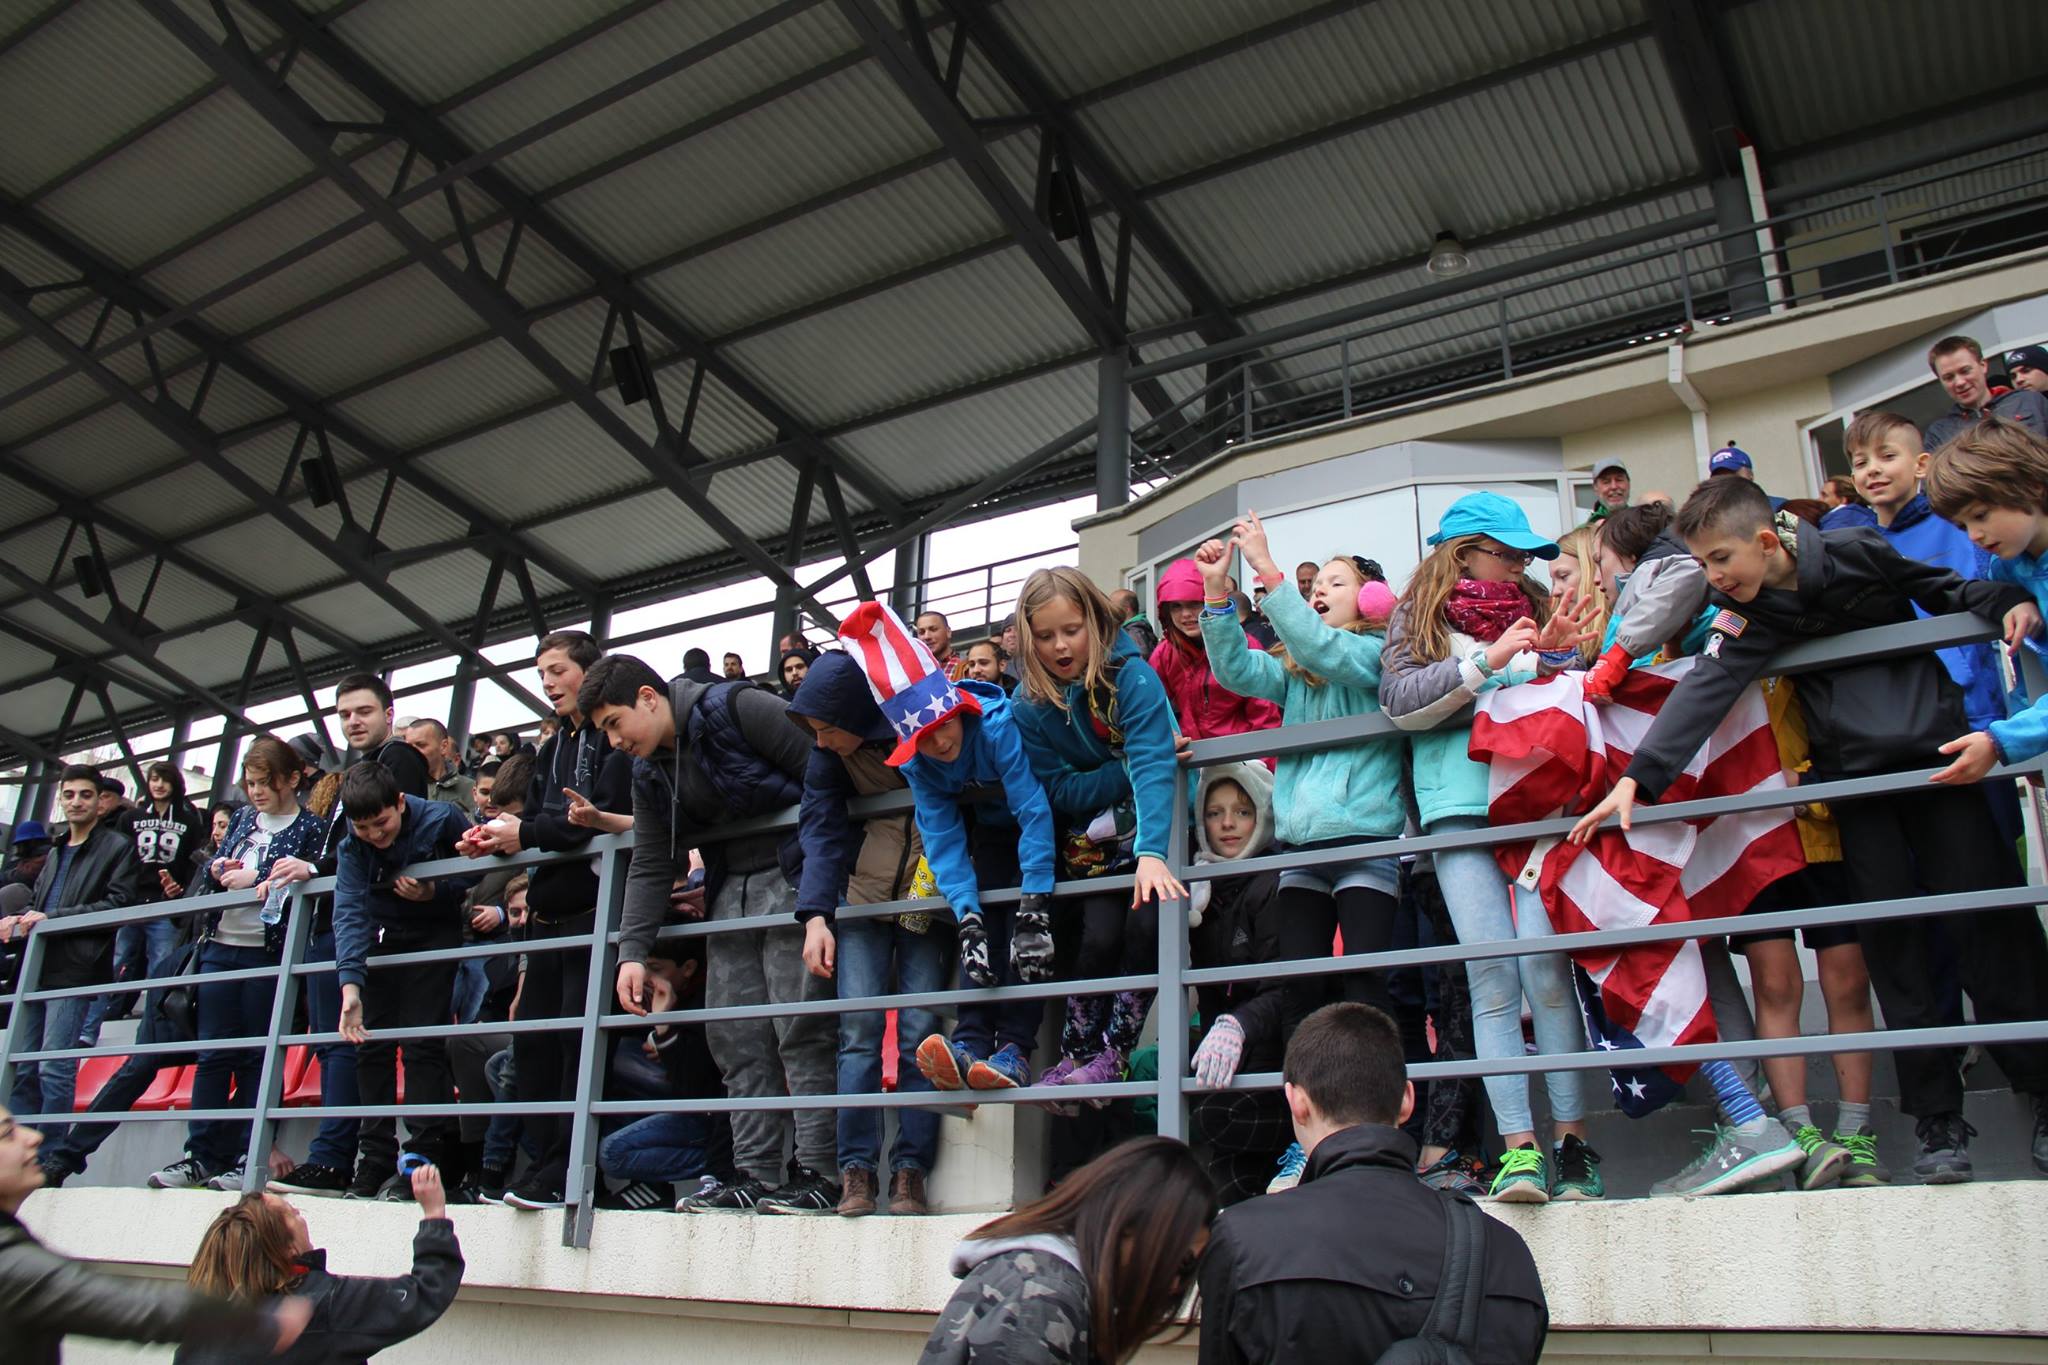
M 1165 862 L 1180 772 L 1174 704 L 1118 620 L 1079 569 L 1038 569 L 1018 593 L 1018 731 L 1061 829 L 1061 874 L 1130 872 L 1137 882 L 1128 898 L 1081 898 L 1071 960 L 1083 980 L 1151 972 L 1157 907 L 1188 896 Z M 1038 1085 L 1122 1081 L 1151 1001 L 1151 990 L 1069 997 L 1059 1062 Z

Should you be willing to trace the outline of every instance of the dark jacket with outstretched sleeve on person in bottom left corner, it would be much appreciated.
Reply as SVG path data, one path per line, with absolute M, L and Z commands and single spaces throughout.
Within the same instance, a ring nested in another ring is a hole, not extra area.
M 57 1365 L 63 1338 L 207 1340 L 268 1353 L 268 1314 L 193 1293 L 184 1285 L 127 1279 L 59 1257 L 12 1214 L 0 1214 L 0 1359 Z

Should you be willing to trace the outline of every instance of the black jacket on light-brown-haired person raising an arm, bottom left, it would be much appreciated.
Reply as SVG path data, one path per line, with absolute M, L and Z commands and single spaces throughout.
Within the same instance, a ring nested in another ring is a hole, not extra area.
M 446 1218 L 420 1220 L 412 1238 L 412 1275 L 332 1275 L 324 1250 L 305 1252 L 301 1265 L 305 1279 L 297 1293 L 313 1302 L 313 1320 L 291 1351 L 268 1357 L 276 1365 L 362 1365 L 434 1326 L 463 1283 L 463 1248 Z M 176 1365 L 244 1365 L 254 1359 L 260 1357 L 248 1355 L 246 1347 L 184 1347 Z

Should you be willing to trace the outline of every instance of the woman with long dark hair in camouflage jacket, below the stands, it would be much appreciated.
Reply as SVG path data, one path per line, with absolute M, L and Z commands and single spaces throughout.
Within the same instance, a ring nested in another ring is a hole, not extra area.
M 1217 1187 L 1171 1138 L 1133 1138 L 952 1250 L 961 1287 L 918 1365 L 1122 1365 L 1194 1287 Z

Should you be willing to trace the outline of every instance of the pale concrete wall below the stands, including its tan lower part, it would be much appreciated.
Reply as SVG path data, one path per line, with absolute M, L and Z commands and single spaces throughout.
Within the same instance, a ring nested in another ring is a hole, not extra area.
M 225 1201 L 63 1189 L 37 1193 L 23 1216 L 70 1254 L 176 1273 Z M 301 1207 L 336 1271 L 408 1263 L 408 1209 Z M 1489 1212 L 1542 1269 L 1550 1359 L 2044 1359 L 2038 1340 L 2015 1340 L 2048 1334 L 2044 1181 Z M 952 1293 L 946 1252 L 979 1222 L 598 1214 L 592 1248 L 571 1250 L 559 1216 L 453 1216 L 469 1263 L 457 1308 L 381 1359 L 614 1361 L 645 1345 L 655 1359 L 905 1361 Z M 80 1342 L 66 1359 L 133 1355 Z

